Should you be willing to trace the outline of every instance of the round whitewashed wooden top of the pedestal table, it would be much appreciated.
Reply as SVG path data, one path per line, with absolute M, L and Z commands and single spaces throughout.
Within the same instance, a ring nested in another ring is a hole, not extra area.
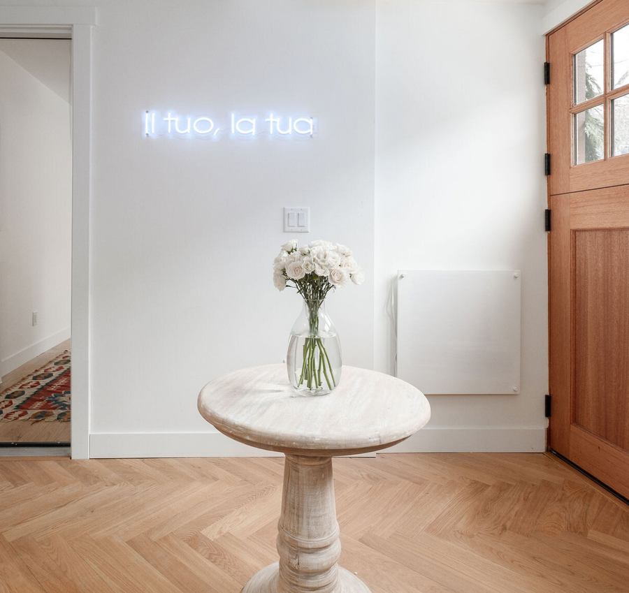
M 294 455 L 352 455 L 403 441 L 431 418 L 421 391 L 383 373 L 343 367 L 327 395 L 303 395 L 286 365 L 251 367 L 210 381 L 201 416 L 231 439 Z

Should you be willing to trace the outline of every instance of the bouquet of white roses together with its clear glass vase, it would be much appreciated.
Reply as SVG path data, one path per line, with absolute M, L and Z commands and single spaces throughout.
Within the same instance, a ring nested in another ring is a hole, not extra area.
M 287 354 L 289 379 L 297 390 L 324 394 L 338 385 L 340 342 L 322 305 L 333 288 L 350 280 L 361 284 L 364 278 L 345 245 L 313 241 L 298 248 L 297 240 L 282 245 L 273 261 L 273 283 L 280 291 L 296 288 L 305 305 L 305 321 L 294 325 Z

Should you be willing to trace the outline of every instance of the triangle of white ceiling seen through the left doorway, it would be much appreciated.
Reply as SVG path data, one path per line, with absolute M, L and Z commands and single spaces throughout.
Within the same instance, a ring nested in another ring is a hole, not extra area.
M 0 39 L 0 51 L 70 103 L 69 39 Z

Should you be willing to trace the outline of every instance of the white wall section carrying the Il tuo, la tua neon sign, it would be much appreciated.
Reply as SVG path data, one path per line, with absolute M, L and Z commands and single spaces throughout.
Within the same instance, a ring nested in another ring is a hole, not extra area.
M 310 207 L 300 241 L 347 244 L 366 269 L 366 284 L 329 295 L 327 308 L 345 363 L 373 364 L 373 6 L 99 2 L 92 456 L 226 451 L 222 435 L 199 437 L 215 430 L 196 396 L 219 374 L 284 359 L 301 310 L 272 282 L 291 237 L 284 206 Z M 147 109 L 312 115 L 318 132 L 145 138 Z

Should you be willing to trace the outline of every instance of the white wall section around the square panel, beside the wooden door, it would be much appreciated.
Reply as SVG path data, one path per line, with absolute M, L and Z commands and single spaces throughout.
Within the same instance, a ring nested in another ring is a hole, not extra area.
M 378 0 L 375 368 L 400 269 L 522 270 L 521 393 L 430 397 L 402 447 L 542 451 L 547 243 L 542 6 Z

